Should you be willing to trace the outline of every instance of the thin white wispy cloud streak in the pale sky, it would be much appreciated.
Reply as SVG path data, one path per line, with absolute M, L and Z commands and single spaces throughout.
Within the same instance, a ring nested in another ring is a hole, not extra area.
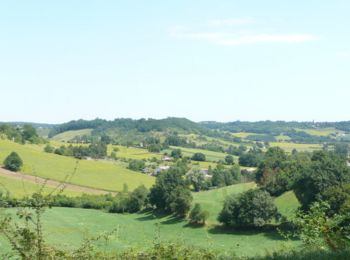
M 217 45 L 237 46 L 248 44 L 269 44 L 269 43 L 302 43 L 317 40 L 318 37 L 309 33 L 259 33 L 242 31 L 241 25 L 251 24 L 252 18 L 244 19 L 226 19 L 211 20 L 209 25 L 215 25 L 217 28 L 204 28 L 193 30 L 185 27 L 174 27 L 169 35 L 177 39 L 204 40 Z M 235 26 L 226 28 L 227 25 Z M 238 28 L 237 28 L 238 27 Z

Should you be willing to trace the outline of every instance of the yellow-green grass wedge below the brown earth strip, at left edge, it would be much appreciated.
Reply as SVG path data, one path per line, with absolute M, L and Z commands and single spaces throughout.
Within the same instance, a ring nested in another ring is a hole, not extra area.
M 38 192 L 42 185 L 31 183 L 25 180 L 16 180 L 4 176 L 0 176 L 0 191 L 10 192 L 10 195 L 15 198 L 22 198 L 30 196 L 31 194 Z M 45 187 L 44 193 L 52 192 L 54 188 Z M 79 196 L 82 192 L 65 189 L 63 192 L 68 196 Z

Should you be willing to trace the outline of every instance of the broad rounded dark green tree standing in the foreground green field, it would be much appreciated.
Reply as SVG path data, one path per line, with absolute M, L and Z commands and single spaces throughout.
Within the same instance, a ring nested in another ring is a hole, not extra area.
M 218 220 L 232 227 L 262 227 L 277 216 L 277 208 L 270 194 L 255 189 L 227 197 Z

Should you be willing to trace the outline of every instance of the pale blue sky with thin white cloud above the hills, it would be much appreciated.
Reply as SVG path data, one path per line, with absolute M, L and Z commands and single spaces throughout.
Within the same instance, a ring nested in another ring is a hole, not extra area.
M 349 0 L 0 1 L 0 121 L 350 120 Z

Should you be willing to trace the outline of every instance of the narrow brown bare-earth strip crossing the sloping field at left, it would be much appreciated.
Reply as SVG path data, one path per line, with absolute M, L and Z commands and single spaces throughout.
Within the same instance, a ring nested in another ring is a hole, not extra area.
M 115 194 L 115 192 L 109 192 L 104 190 L 98 190 L 94 188 L 89 188 L 85 186 L 70 184 L 70 183 L 61 183 L 59 181 L 44 179 L 41 177 L 36 177 L 32 175 L 23 174 L 20 172 L 11 172 L 9 170 L 6 170 L 4 168 L 0 168 L 0 176 L 9 177 L 16 180 L 22 180 L 25 182 L 30 182 L 34 184 L 45 184 L 46 187 L 50 188 L 56 188 L 56 187 L 64 187 L 67 190 L 72 191 L 79 191 L 79 192 L 85 192 L 85 193 L 94 193 L 94 194 Z

